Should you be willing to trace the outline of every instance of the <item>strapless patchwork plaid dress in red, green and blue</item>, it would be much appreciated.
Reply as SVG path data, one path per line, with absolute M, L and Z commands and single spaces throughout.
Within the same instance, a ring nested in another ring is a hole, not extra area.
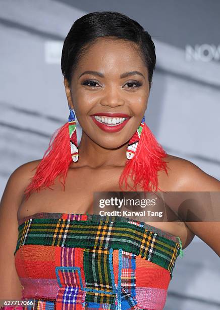
M 179 237 L 122 216 L 35 213 L 18 230 L 18 309 L 163 309 L 183 253 Z

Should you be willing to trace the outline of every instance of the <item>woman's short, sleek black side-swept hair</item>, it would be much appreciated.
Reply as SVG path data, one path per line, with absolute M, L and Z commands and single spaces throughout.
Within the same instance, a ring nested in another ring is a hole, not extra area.
M 88 13 L 77 19 L 67 34 L 61 57 L 61 69 L 69 85 L 80 57 L 96 40 L 112 37 L 136 43 L 147 70 L 149 88 L 156 65 L 155 46 L 150 34 L 135 20 L 114 11 Z

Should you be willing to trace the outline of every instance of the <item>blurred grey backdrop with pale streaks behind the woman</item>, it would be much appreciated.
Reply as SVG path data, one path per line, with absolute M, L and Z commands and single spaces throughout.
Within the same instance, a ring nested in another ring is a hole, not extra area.
M 220 179 L 219 1 L 2 0 L 0 6 L 1 195 L 10 174 L 42 158 L 51 134 L 68 121 L 60 57 L 71 25 L 105 10 L 127 14 L 153 38 L 157 66 L 145 117 L 157 140 Z M 165 309 L 219 309 L 219 257 L 197 237 L 184 253 Z

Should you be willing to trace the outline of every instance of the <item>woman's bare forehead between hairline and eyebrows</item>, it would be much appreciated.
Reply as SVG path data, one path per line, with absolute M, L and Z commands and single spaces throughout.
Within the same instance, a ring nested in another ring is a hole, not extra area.
M 135 43 L 111 38 L 98 39 L 80 57 L 77 71 L 91 69 L 116 74 L 134 70 L 147 73 Z

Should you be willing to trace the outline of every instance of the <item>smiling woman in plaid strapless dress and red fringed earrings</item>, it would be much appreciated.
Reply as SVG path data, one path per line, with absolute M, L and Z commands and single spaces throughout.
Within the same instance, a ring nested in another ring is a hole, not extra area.
M 175 261 L 195 235 L 220 255 L 217 222 L 92 215 L 95 191 L 220 190 L 218 180 L 167 154 L 145 124 L 155 63 L 151 36 L 123 14 L 93 12 L 71 27 L 61 59 L 69 120 L 43 159 L 12 173 L 1 201 L 0 299 L 35 299 L 46 309 L 162 309 Z

